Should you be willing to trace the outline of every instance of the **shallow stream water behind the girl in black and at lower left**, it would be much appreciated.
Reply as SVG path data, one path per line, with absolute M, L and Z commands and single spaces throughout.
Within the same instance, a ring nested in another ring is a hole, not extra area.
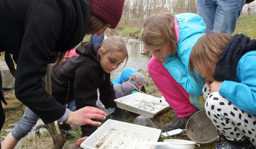
M 122 70 L 127 67 L 132 67 L 136 70 L 142 70 L 146 72 L 146 65 L 149 62 L 149 57 L 147 55 L 142 55 L 144 50 L 144 44 L 140 40 L 136 39 L 128 39 L 126 40 L 127 50 L 129 54 L 129 59 L 127 61 L 127 65 L 120 65 L 117 70 L 111 72 L 111 80 L 121 75 Z M 1 141 L 8 135 L 12 128 L 14 128 L 15 123 L 23 116 L 23 112 L 25 110 L 25 106 L 19 106 L 15 109 L 11 109 L 9 111 L 5 111 L 6 113 L 6 122 L 4 123 L 4 127 L 1 130 Z M 38 123 L 42 123 L 39 121 Z

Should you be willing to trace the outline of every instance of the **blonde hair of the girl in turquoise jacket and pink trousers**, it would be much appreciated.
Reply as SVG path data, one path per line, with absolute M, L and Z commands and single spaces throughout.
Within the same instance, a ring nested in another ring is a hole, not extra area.
M 153 14 L 146 19 L 142 31 L 142 41 L 146 45 L 161 46 L 169 43 L 169 54 L 176 53 L 176 33 L 174 15 L 171 13 Z M 161 49 L 162 49 L 161 48 Z

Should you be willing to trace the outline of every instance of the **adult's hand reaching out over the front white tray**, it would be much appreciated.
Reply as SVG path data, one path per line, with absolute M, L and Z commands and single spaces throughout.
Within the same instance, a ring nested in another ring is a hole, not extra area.
M 82 126 L 85 124 L 99 126 L 101 123 L 99 121 L 92 121 L 92 118 L 105 119 L 106 116 L 107 114 L 101 109 L 97 109 L 92 106 L 85 106 L 78 111 L 70 111 L 65 123 L 74 126 Z

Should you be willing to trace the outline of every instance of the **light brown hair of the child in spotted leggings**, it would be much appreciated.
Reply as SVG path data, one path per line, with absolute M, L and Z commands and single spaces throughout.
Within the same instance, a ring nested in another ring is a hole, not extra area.
M 203 35 L 191 51 L 188 63 L 191 76 L 196 79 L 193 69 L 198 75 L 213 76 L 220 54 L 231 38 L 232 35 L 217 32 Z

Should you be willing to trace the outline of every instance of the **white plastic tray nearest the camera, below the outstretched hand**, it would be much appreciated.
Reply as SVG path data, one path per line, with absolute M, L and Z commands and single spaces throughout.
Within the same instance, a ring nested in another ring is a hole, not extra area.
M 141 142 L 157 142 L 161 130 L 108 119 L 80 145 L 81 148 L 148 149 Z

